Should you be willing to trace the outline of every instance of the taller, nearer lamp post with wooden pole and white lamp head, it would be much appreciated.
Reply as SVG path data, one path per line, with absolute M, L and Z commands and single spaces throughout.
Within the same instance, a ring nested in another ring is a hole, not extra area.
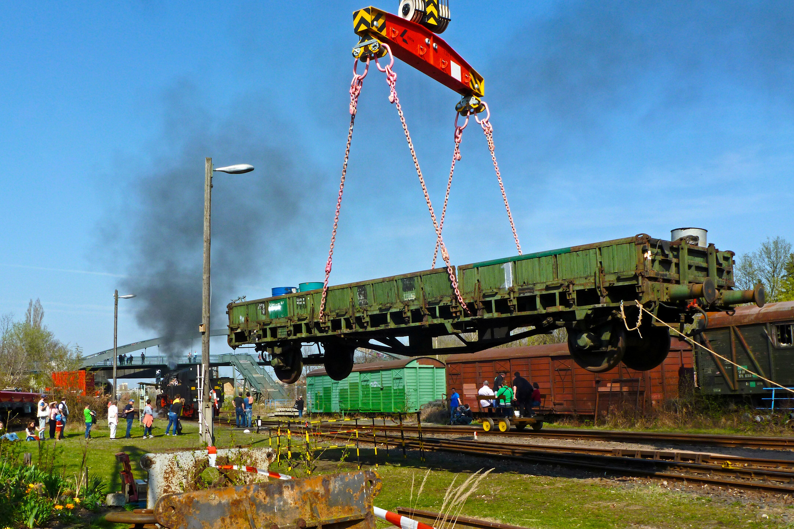
M 202 324 L 198 326 L 201 332 L 201 362 L 202 362 L 202 401 L 199 408 L 204 433 L 204 442 L 208 447 L 214 445 L 213 431 L 213 401 L 210 396 L 210 210 L 212 203 L 212 173 L 219 171 L 228 174 L 243 174 L 253 171 L 253 166 L 248 163 L 239 163 L 226 167 L 213 169 L 212 159 L 205 159 L 204 165 L 204 273 L 202 278 Z M 210 420 L 206 420 L 209 417 Z

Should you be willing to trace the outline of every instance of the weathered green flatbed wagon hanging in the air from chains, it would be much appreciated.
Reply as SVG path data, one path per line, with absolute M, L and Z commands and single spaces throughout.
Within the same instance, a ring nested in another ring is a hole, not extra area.
M 297 381 L 303 363 L 322 363 L 341 380 L 357 347 L 406 356 L 476 352 L 565 327 L 580 366 L 601 372 L 622 361 L 649 370 L 667 355 L 668 330 L 646 317 L 640 332 L 626 331 L 622 303 L 630 322 L 641 304 L 681 326 L 700 307 L 763 305 L 762 288 L 733 289 L 733 252 L 699 243 L 640 234 L 458 266 L 465 310 L 444 268 L 330 286 L 324 317 L 322 289 L 231 303 L 229 346 L 267 351 L 282 381 Z M 434 349 L 442 335 L 460 345 Z M 322 354 L 303 358 L 303 343 L 322 344 Z

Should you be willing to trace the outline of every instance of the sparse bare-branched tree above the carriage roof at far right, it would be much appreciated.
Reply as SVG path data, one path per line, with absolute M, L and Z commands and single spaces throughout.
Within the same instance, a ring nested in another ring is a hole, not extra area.
M 767 301 L 782 301 L 792 259 L 792 243 L 781 236 L 769 237 L 754 252 L 744 254 L 734 268 L 734 281 L 740 289 L 752 289 L 758 282 L 766 289 Z

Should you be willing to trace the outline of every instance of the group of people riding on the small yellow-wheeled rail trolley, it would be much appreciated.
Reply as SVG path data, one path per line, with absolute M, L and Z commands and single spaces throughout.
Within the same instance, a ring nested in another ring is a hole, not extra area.
M 510 416 L 511 411 L 518 412 L 518 416 L 534 417 L 533 408 L 541 405 L 541 390 L 538 382 L 530 382 L 516 371 L 514 378 L 506 382 L 507 373 L 499 373 L 493 382 L 483 381 L 483 386 L 477 391 L 479 397 L 480 410 L 495 412 Z M 450 389 L 449 393 L 449 422 L 451 424 L 469 424 L 472 422 L 472 410 L 468 404 L 464 404 L 461 395 L 455 388 Z

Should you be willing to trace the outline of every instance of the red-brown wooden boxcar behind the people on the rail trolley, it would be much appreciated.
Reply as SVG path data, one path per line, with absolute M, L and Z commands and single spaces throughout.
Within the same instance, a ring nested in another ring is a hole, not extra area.
M 542 410 L 563 415 L 594 416 L 596 409 L 611 406 L 647 408 L 679 396 L 679 381 L 692 381 L 692 349 L 672 339 L 670 353 L 660 366 L 649 371 L 630 370 L 619 364 L 605 373 L 592 373 L 573 362 L 568 344 L 488 349 L 473 355 L 449 355 L 447 388 L 457 389 L 465 404 L 479 409 L 477 391 L 483 381 L 493 386 L 505 373 L 515 371 L 538 382 L 543 395 Z

